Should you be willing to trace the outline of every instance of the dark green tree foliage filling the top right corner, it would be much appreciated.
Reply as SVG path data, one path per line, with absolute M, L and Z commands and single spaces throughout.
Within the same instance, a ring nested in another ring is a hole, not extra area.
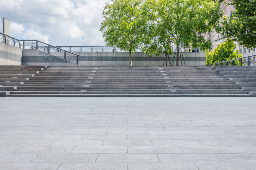
M 256 47 L 256 0 L 231 0 L 230 17 L 224 17 L 223 33 L 248 48 Z

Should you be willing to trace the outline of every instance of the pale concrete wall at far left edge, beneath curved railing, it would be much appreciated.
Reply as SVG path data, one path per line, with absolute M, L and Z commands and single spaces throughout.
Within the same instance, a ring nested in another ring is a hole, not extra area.
M 0 42 L 0 65 L 21 65 L 22 49 Z

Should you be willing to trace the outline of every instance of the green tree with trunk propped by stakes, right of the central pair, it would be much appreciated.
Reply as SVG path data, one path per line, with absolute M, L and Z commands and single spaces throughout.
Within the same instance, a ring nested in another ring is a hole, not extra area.
M 157 15 L 153 22 L 154 27 L 151 27 L 154 28 L 154 40 L 146 52 L 172 52 L 171 43 L 177 45 L 177 51 L 180 47 L 190 46 L 209 49 L 210 40 L 206 40 L 201 34 L 218 27 L 219 19 L 223 15 L 220 1 L 157 0 L 154 8 Z M 159 46 L 163 48 L 159 49 Z M 179 52 L 176 59 L 179 65 Z

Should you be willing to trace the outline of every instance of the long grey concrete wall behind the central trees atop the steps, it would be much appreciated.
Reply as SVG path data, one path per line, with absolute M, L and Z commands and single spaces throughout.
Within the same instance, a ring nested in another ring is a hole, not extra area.
M 80 55 L 79 64 L 80 65 L 129 65 L 129 53 L 128 52 L 75 52 Z M 148 55 L 143 52 L 136 52 L 133 54 L 133 65 L 163 65 L 164 55 L 159 56 L 153 55 L 148 57 Z M 172 55 L 173 56 L 173 55 Z M 172 60 L 172 56 L 170 59 Z M 205 52 L 184 52 L 184 60 L 187 66 L 199 66 L 205 65 Z M 180 59 L 180 58 L 179 58 Z M 184 65 L 184 63 L 182 62 Z M 169 63 L 168 63 L 169 65 Z M 176 58 L 174 65 L 176 65 Z M 179 65 L 181 63 L 179 62 Z

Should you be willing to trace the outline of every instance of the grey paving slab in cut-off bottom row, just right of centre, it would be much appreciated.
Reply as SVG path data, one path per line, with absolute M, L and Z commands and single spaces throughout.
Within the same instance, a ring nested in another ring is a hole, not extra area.
M 129 163 L 129 170 L 198 170 L 193 163 Z

